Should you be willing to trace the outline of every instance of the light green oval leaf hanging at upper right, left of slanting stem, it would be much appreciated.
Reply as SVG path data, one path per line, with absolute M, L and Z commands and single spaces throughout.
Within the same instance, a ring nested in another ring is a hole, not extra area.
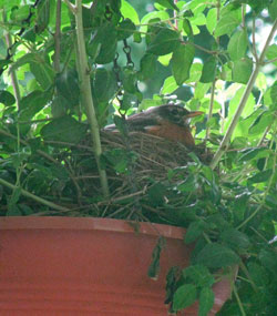
M 232 35 L 227 48 L 230 59 L 235 61 L 244 58 L 247 44 L 247 33 L 244 30 L 235 32 Z

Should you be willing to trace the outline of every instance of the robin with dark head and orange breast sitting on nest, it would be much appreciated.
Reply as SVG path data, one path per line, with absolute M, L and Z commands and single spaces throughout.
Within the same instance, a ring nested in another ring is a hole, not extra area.
M 199 111 L 187 111 L 181 105 L 160 105 L 126 119 L 129 132 L 143 132 L 170 141 L 181 142 L 186 146 L 194 146 L 189 119 L 202 115 Z M 105 126 L 105 131 L 116 131 L 115 124 Z

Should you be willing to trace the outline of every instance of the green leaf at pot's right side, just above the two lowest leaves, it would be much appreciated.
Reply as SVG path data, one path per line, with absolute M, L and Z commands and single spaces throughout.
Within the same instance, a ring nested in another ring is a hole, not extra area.
M 189 278 L 197 287 L 212 286 L 215 283 L 214 276 L 204 265 L 191 265 L 182 271 L 184 278 Z

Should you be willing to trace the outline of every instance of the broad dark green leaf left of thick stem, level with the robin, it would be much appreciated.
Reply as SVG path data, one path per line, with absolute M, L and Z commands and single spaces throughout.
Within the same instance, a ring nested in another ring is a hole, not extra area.
M 84 139 L 86 130 L 85 124 L 66 115 L 45 124 L 41 129 L 41 135 L 45 141 L 64 142 L 64 146 L 69 146 L 69 142 L 76 144 Z

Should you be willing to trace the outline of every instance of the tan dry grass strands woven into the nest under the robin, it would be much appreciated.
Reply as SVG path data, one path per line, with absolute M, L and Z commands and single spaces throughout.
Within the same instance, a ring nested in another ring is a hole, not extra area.
M 114 150 L 122 150 L 125 153 L 131 151 L 135 156 L 133 162 L 129 161 L 129 172 L 116 172 L 112 163 L 109 163 L 109 161 L 105 163 L 112 196 L 141 191 L 145 188 L 150 179 L 154 181 L 167 180 L 168 170 L 184 166 L 193 161 L 189 156 L 192 152 L 203 163 L 211 161 L 211 153 L 206 151 L 203 144 L 188 149 L 182 143 L 138 132 L 130 133 L 129 137 L 124 139 L 121 133 L 102 131 L 101 141 L 104 156 L 107 159 Z M 116 159 L 120 161 L 120 157 L 116 157 L 116 152 L 114 154 L 115 161 Z M 84 171 L 84 173 L 83 175 L 88 176 L 88 171 Z M 88 181 L 95 180 L 95 177 L 96 173 L 93 172 Z M 98 181 L 93 185 L 93 190 L 99 187 L 100 183 Z

